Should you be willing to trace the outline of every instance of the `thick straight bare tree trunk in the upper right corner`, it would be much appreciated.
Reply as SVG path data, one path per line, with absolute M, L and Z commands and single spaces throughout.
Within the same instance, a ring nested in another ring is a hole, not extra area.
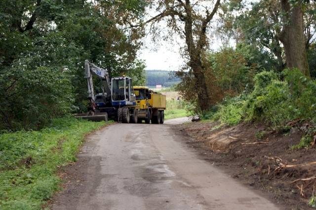
M 287 67 L 297 68 L 304 75 L 310 76 L 304 41 L 302 2 L 291 7 L 289 0 L 281 0 L 281 7 L 286 15 L 279 39 L 284 45 Z

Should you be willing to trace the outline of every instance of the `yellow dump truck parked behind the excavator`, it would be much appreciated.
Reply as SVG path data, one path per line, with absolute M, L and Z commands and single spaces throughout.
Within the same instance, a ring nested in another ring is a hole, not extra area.
M 139 108 L 137 123 L 152 122 L 163 124 L 164 109 L 166 109 L 166 96 L 150 90 L 144 86 L 134 86 L 136 96 L 136 109 Z

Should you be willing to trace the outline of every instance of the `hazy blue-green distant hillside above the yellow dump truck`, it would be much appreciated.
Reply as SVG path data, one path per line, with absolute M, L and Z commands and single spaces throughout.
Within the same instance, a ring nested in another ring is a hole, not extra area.
M 173 73 L 174 71 L 167 70 L 146 70 L 146 85 L 162 85 L 162 87 L 173 86 L 181 81 L 179 78 L 174 78 Z

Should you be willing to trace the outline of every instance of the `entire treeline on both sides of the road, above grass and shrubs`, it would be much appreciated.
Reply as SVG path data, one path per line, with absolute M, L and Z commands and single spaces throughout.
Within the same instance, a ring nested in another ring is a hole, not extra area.
M 144 85 L 146 33 L 181 45 L 177 89 L 197 113 L 252 90 L 265 70 L 315 78 L 315 24 L 316 0 L 2 0 L 0 130 L 84 110 L 85 59 Z

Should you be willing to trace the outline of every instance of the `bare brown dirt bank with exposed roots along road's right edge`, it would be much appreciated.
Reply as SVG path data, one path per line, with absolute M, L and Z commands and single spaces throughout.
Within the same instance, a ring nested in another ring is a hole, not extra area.
M 216 126 L 194 122 L 174 125 L 174 129 L 201 158 L 244 184 L 261 189 L 286 209 L 312 209 L 307 203 L 316 187 L 316 148 L 290 149 L 300 142 L 300 131 L 280 133 L 245 123 L 214 130 Z

